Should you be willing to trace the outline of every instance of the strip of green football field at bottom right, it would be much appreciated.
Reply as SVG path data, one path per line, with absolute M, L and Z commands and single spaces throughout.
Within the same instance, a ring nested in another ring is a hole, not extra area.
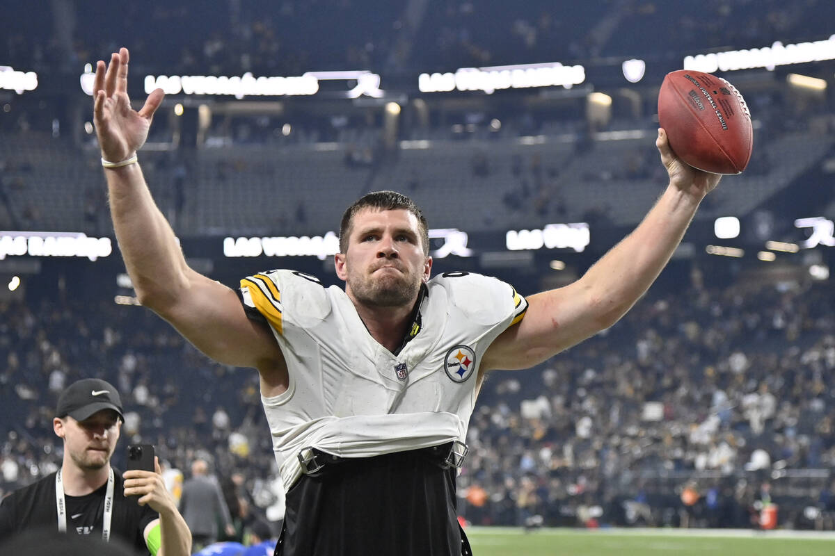
M 832 556 L 835 533 L 681 529 L 539 529 L 471 527 L 473 556 Z

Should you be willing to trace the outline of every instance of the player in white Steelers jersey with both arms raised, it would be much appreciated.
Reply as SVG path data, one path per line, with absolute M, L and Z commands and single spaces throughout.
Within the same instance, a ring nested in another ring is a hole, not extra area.
M 337 275 L 291 270 L 240 292 L 188 266 L 137 151 L 163 92 L 138 112 L 129 53 L 99 62 L 94 118 L 119 247 L 140 302 L 221 363 L 258 369 L 287 491 L 276 554 L 469 553 L 455 476 L 484 373 L 530 368 L 610 327 L 645 293 L 719 176 L 656 146 L 670 184 L 644 221 L 575 283 L 522 298 L 472 273 L 433 278 L 420 208 L 394 192 L 347 209 Z

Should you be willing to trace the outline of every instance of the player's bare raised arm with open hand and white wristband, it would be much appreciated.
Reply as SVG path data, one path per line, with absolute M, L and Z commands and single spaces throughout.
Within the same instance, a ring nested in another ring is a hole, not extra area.
M 269 368 L 282 361 L 268 329 L 246 317 L 237 294 L 185 262 L 174 231 L 157 208 L 136 152 L 148 137 L 163 93 L 135 111 L 127 94 L 129 53 L 96 66 L 94 120 L 107 178 L 116 239 L 140 303 L 172 323 L 221 363 Z

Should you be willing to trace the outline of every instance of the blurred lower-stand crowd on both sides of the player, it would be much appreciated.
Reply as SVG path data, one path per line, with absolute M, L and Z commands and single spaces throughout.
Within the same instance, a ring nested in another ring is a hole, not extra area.
M 568 353 L 488 376 L 459 478 L 464 518 L 746 527 L 771 482 L 783 525 L 816 526 L 807 506 L 817 527 L 831 522 L 832 288 L 707 281 L 696 271 L 680 291 L 650 290 Z M 0 313 L 0 489 L 54 470 L 57 393 L 94 375 L 124 393 L 123 436 L 155 443 L 169 468 L 210 462 L 237 492 L 240 523 L 281 504 L 256 373 L 211 362 L 153 314 L 111 300 L 58 295 Z

